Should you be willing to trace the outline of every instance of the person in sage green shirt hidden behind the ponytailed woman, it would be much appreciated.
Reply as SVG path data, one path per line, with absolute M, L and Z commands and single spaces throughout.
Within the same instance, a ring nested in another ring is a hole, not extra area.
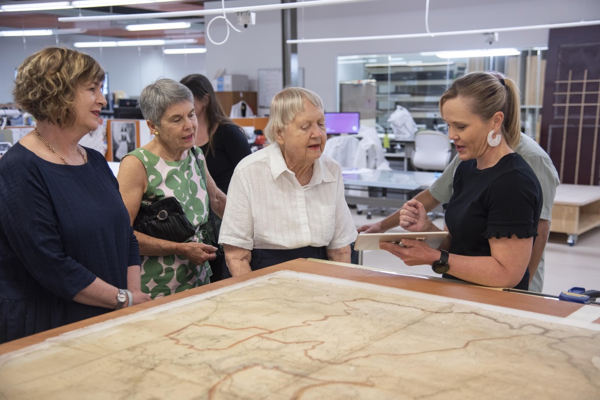
M 514 151 L 520 154 L 533 169 L 542 187 L 543 206 L 539 217 L 538 237 L 533 244 L 531 259 L 528 265 L 529 290 L 532 292 L 541 292 L 544 286 L 544 248 L 550 234 L 550 218 L 556 187 L 560 183 L 559 175 L 544 149 L 527 135 L 521 133 L 521 140 Z M 460 161 L 460 158 L 455 156 L 442 175 L 428 189 L 423 190 L 415 196 L 415 199 L 424 205 L 425 210 L 429 212 L 436 208 L 437 205 L 445 204 L 449 201 L 452 195 L 454 172 Z M 400 223 L 400 210 L 379 222 L 361 226 L 358 228 L 358 232 L 376 234 L 395 228 Z

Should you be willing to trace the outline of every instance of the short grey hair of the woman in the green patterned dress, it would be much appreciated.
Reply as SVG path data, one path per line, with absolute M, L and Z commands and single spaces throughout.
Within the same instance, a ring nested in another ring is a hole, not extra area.
M 160 126 L 160 121 L 167 108 L 185 101 L 194 104 L 194 95 L 190 89 L 172 79 L 160 78 L 142 90 L 140 110 L 142 110 L 144 119 Z

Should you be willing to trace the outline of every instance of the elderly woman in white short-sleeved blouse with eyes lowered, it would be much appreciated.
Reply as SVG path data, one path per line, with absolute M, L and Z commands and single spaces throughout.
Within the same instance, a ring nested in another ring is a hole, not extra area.
M 271 102 L 271 146 L 233 172 L 219 236 L 233 276 L 296 258 L 350 262 L 356 228 L 340 165 L 323 154 L 319 95 L 287 87 Z

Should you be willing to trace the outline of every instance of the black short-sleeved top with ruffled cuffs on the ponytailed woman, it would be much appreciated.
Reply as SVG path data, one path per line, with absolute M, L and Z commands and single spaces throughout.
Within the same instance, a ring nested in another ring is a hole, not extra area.
M 536 237 L 542 189 L 523 157 L 510 153 L 490 168 L 476 165 L 475 159 L 461 162 L 454 174 L 452 197 L 445 207 L 450 253 L 490 256 L 490 238 Z M 527 289 L 528 281 L 526 269 L 515 287 Z

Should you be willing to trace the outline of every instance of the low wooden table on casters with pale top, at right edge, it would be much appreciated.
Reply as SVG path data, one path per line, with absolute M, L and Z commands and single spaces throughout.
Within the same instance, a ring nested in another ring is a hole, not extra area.
M 600 226 L 600 186 L 559 184 L 550 231 L 567 234 L 567 243 L 574 246 L 578 235 L 596 226 Z

